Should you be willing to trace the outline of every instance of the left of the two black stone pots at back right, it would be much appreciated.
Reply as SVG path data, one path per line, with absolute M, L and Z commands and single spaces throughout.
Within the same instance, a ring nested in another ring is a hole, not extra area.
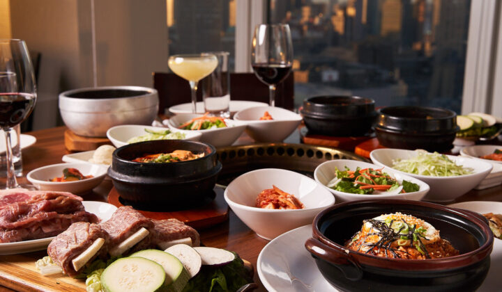
M 364 136 L 377 113 L 374 100 L 364 97 L 319 96 L 305 99 L 301 110 L 309 133 Z

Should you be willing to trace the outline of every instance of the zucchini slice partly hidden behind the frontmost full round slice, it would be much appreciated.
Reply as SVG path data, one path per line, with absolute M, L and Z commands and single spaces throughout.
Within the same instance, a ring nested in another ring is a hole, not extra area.
M 165 270 L 167 291 L 182 291 L 190 279 L 190 273 L 183 267 L 181 261 L 162 250 L 142 250 L 131 254 L 130 257 L 144 257 L 159 263 Z

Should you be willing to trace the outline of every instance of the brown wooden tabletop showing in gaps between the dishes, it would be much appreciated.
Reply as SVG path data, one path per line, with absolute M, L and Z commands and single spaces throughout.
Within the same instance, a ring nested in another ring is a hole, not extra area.
M 23 172 L 27 172 L 44 165 L 61 163 L 61 157 L 68 154 L 63 143 L 63 134 L 66 127 L 57 127 L 53 129 L 45 129 L 29 133 L 37 138 L 35 145 L 24 149 L 22 152 Z M 299 137 L 299 136 L 298 136 Z M 299 141 L 299 140 L 298 140 Z M 296 141 L 298 143 L 298 141 Z M 249 136 L 243 134 L 238 140 L 239 144 L 252 143 Z M 5 179 L 2 180 L 3 182 Z M 20 183 L 27 182 L 24 177 L 18 179 Z M 95 188 L 93 193 L 85 195 L 84 200 L 99 200 L 105 201 L 112 184 L 105 180 L 98 188 Z M 459 197 L 455 202 L 465 201 L 499 201 L 502 202 L 502 186 L 487 188 L 485 190 L 471 190 L 466 195 Z M 230 212 L 229 220 L 214 227 L 199 230 L 201 241 L 215 248 L 225 248 L 233 250 L 250 261 L 255 269 L 254 281 L 259 284 L 257 291 L 265 291 L 263 285 L 259 281 L 256 272 L 256 264 L 259 252 L 264 248 L 268 241 L 260 238 L 244 223 L 239 220 L 233 212 Z M 1 260 L 0 260 L 1 261 Z M 0 277 L 0 284 L 10 289 L 22 289 L 23 286 L 16 284 L 10 279 Z M 0 291 L 10 291 L 8 289 Z

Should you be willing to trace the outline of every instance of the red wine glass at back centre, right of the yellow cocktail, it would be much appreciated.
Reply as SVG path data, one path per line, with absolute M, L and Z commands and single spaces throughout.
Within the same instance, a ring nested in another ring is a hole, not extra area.
M 292 63 L 289 25 L 257 25 L 252 39 L 251 65 L 258 79 L 268 85 L 271 106 L 275 106 L 275 86 L 291 72 Z

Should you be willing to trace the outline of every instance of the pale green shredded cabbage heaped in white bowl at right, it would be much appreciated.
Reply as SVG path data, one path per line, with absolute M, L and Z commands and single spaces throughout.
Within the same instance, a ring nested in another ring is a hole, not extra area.
M 427 175 L 429 177 L 455 177 L 470 175 L 472 168 L 464 168 L 451 161 L 448 156 L 438 152 L 429 153 L 425 150 L 416 150 L 416 156 L 410 159 L 396 159 L 393 168 L 414 175 Z

